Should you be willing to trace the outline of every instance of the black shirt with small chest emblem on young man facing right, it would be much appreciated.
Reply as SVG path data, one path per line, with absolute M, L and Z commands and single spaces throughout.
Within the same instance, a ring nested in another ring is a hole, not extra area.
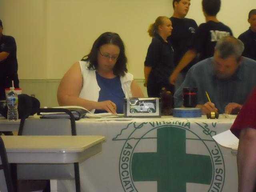
M 198 26 L 193 19 L 171 17 L 170 20 L 172 21 L 173 30 L 168 40 L 172 43 L 174 49 L 174 64 L 177 66 L 193 43 Z M 196 59 L 192 60 L 182 72 L 187 72 L 196 62 Z

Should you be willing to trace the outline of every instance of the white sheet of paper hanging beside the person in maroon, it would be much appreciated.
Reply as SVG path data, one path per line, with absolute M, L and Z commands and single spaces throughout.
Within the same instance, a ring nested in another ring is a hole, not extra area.
M 221 146 L 236 150 L 238 148 L 239 139 L 230 130 L 217 134 L 212 138 Z

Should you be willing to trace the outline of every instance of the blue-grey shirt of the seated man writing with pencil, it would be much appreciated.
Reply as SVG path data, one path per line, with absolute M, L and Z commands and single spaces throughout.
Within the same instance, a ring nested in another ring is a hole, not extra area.
M 256 61 L 243 57 L 235 74 L 226 80 L 214 74 L 213 57 L 192 66 L 180 88 L 174 94 L 175 107 L 183 105 L 183 87 L 197 87 L 197 103 L 208 102 L 206 91 L 220 114 L 225 112 L 228 103 L 244 104 L 256 86 Z

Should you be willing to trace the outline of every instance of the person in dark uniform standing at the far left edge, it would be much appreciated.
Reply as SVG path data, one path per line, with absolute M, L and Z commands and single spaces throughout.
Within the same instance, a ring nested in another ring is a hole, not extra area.
M 12 36 L 3 34 L 3 24 L 0 20 L 0 100 L 5 100 L 5 88 L 19 88 L 18 62 L 16 42 Z

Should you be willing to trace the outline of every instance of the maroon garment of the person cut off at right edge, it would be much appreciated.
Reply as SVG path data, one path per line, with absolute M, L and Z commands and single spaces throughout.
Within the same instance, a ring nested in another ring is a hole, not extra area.
M 256 90 L 254 90 L 247 102 L 241 108 L 230 130 L 237 138 L 239 138 L 240 132 L 244 128 L 256 129 Z

